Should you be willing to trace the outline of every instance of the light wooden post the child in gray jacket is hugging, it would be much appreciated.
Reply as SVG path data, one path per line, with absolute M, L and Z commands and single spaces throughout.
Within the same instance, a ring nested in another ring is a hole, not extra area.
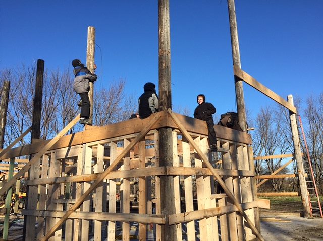
M 87 50 L 86 50 L 86 66 L 91 73 L 94 73 L 94 53 L 95 53 L 95 28 L 89 26 L 87 28 Z M 90 116 L 89 120 L 93 123 L 93 83 L 90 82 L 89 90 L 90 99 Z

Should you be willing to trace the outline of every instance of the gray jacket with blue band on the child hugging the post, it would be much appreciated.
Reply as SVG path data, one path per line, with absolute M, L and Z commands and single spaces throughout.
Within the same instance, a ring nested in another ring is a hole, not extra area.
M 88 92 L 90 89 L 89 82 L 94 82 L 97 79 L 96 74 L 92 74 L 84 64 L 80 64 L 73 69 L 74 83 L 73 89 L 76 93 Z

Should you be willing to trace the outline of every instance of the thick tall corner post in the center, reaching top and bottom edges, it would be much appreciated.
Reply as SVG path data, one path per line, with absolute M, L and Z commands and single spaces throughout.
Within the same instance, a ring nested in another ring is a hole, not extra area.
M 171 95 L 171 38 L 169 0 L 158 0 L 158 68 L 159 68 L 159 111 L 172 108 Z M 159 129 L 160 167 L 173 166 L 172 128 Z M 174 181 L 172 176 L 160 177 L 161 214 L 175 213 Z M 168 220 L 161 229 L 161 240 L 177 240 L 176 225 L 169 226 Z

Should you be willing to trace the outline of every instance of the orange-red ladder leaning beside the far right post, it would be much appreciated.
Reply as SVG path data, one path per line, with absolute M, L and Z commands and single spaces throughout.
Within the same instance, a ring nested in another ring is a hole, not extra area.
M 321 208 L 321 204 L 319 201 L 319 195 L 318 195 L 318 191 L 317 191 L 317 187 L 316 187 L 312 163 L 311 163 L 311 159 L 309 157 L 309 151 L 307 148 L 307 142 L 306 142 L 302 119 L 301 119 L 300 115 L 298 115 L 298 120 L 299 120 L 299 127 L 302 132 L 302 135 L 299 135 L 300 136 L 300 143 L 301 143 L 301 147 L 302 147 L 303 152 L 306 153 L 306 156 L 303 157 L 303 162 L 304 162 L 305 172 L 307 173 L 306 184 L 307 184 L 307 190 L 308 190 L 308 200 L 309 200 L 310 210 L 311 210 L 312 215 L 314 217 L 320 216 L 321 218 L 323 218 L 322 208 Z M 303 140 L 301 140 L 301 137 L 303 138 Z M 316 197 L 317 201 L 311 201 L 311 197 L 312 198 L 314 197 L 314 199 Z M 317 206 L 314 207 L 313 204 L 317 204 Z

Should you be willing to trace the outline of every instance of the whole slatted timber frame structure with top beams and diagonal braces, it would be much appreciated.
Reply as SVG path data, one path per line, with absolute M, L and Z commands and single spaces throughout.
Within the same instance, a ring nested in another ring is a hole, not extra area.
M 253 240 L 260 235 L 254 184 L 251 138 L 216 125 L 223 168 L 214 168 L 208 152 L 207 127 L 201 120 L 161 111 L 149 118 L 131 119 L 102 127 L 87 127 L 57 137 L 5 149 L 1 159 L 33 157 L 0 193 L 6 192 L 29 168 L 26 240 L 130 240 L 130 224 L 138 223 L 139 240 L 154 226 L 155 240 L 162 227 L 176 229 L 176 240 Z M 159 135 L 172 128 L 173 165 L 159 166 Z M 148 141 L 148 144 L 147 144 Z M 160 177 L 172 177 L 172 214 L 163 214 Z M 131 211 L 132 180 L 138 180 L 138 211 Z M 225 194 L 216 193 L 216 183 Z M 197 204 L 194 202 L 197 201 Z

